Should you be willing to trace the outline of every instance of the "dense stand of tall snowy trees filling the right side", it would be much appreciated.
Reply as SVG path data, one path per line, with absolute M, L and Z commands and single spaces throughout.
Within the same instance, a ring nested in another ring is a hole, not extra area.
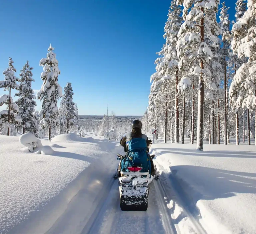
M 232 22 L 225 2 L 172 0 L 142 119 L 156 138 L 184 144 L 188 137 L 199 150 L 203 141 L 255 138 L 256 3 L 229 3 Z

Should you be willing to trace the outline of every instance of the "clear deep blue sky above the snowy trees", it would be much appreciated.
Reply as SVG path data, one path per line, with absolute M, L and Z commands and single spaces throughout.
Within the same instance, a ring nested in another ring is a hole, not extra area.
M 0 72 L 12 57 L 17 74 L 26 60 L 34 67 L 32 88 L 41 88 L 39 66 L 52 43 L 62 87 L 71 82 L 79 114 L 142 115 L 150 75 L 170 0 L 0 1 Z M 235 0 L 227 0 L 231 20 Z M 4 79 L 4 76 L 1 75 Z M 15 91 L 13 91 L 14 93 Z M 0 89 L 0 95 L 6 92 Z M 14 95 L 12 95 L 14 96 Z M 37 110 L 41 104 L 37 101 Z

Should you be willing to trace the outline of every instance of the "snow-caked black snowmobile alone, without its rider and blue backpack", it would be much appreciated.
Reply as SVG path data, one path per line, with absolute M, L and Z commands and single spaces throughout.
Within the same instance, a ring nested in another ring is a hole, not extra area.
M 117 156 L 117 159 L 121 161 L 125 158 L 125 156 L 120 154 Z M 149 157 L 149 160 L 152 160 L 155 155 L 151 155 Z M 151 172 L 151 176 L 158 179 L 159 177 L 156 166 L 151 168 L 154 168 L 153 172 Z M 149 171 L 141 172 L 143 168 L 137 166 L 131 166 L 127 169 L 129 172 L 122 172 L 120 167 L 117 171 L 117 176 L 120 181 L 120 208 L 122 211 L 147 211 Z

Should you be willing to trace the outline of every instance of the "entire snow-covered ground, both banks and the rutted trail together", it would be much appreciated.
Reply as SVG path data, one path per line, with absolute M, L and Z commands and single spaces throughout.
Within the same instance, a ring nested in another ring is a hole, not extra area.
M 0 136 L 0 233 L 256 233 L 255 146 L 162 142 L 151 148 L 160 180 L 136 212 L 119 207 L 118 142 L 63 134 L 40 155 Z

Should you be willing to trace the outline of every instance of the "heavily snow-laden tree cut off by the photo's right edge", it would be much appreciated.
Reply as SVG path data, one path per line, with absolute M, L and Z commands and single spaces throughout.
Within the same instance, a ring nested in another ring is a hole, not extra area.
M 237 98 L 238 106 L 240 104 L 247 108 L 248 144 L 250 144 L 249 110 L 256 112 L 256 0 L 248 0 L 247 7 L 242 18 L 233 25 L 232 49 L 237 53 L 238 58 L 246 57 L 248 62 L 243 63 L 237 70 L 232 83 L 240 91 Z M 230 92 L 233 92 L 232 90 Z

